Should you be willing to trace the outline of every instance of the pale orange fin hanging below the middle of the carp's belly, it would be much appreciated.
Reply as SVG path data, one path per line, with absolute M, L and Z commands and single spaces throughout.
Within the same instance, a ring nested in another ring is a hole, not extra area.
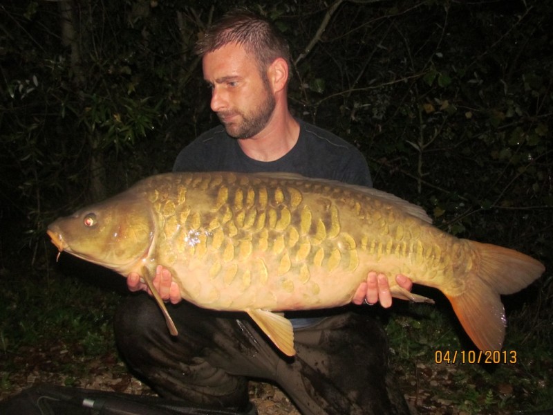
M 287 356 L 294 356 L 294 330 L 287 318 L 271 311 L 250 308 L 246 313 L 263 330 L 263 333 Z

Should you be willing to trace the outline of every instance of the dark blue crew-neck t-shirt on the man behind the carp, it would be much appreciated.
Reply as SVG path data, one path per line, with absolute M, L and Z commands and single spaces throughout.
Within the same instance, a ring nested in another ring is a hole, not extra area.
M 274 161 L 254 160 L 238 140 L 220 125 L 180 151 L 174 172 L 288 172 L 372 187 L 364 156 L 353 145 L 312 124 L 298 120 L 299 138 L 285 156 Z

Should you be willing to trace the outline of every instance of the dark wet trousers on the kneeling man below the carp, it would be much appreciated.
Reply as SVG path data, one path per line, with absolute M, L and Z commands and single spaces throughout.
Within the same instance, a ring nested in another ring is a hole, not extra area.
M 166 398 L 214 408 L 245 407 L 247 378 L 276 382 L 304 415 L 409 414 L 388 369 L 382 326 L 357 313 L 294 330 L 297 355 L 284 356 L 244 313 L 169 305 L 173 337 L 153 299 L 133 295 L 115 317 L 126 362 Z

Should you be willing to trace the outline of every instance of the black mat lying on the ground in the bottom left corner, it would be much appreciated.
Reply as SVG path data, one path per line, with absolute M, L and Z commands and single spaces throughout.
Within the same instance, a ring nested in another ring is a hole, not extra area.
M 0 402 L 2 415 L 257 415 L 254 405 L 241 412 L 191 407 L 178 400 L 117 394 L 74 387 L 39 385 Z

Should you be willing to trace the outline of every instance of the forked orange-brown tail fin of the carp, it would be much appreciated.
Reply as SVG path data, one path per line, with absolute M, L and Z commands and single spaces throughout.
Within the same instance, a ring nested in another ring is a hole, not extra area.
M 447 298 L 459 321 L 480 350 L 499 350 L 505 338 L 505 309 L 500 294 L 512 294 L 538 279 L 541 262 L 516 250 L 468 241 L 474 252 L 466 290 Z

